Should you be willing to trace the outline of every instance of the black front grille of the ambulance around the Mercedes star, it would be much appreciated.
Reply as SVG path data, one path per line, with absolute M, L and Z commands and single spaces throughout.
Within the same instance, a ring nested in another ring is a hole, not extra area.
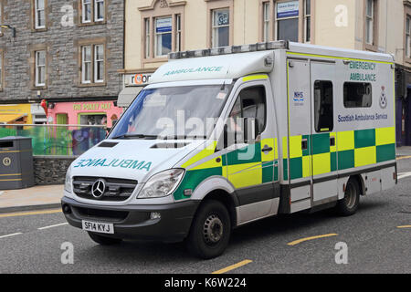
M 98 180 L 104 180 L 105 191 L 100 198 L 95 198 L 91 193 L 91 188 Z M 112 178 L 99 178 L 99 177 L 74 177 L 73 178 L 73 191 L 80 198 L 97 200 L 97 201 L 111 201 L 121 202 L 125 201 L 132 195 L 137 181 L 112 179 Z

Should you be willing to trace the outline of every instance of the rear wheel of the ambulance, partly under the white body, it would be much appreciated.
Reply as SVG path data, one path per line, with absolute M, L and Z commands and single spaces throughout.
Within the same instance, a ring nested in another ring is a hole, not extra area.
M 358 210 L 360 204 L 360 185 L 356 179 L 348 180 L 344 198 L 337 203 L 337 212 L 342 216 L 351 216 Z

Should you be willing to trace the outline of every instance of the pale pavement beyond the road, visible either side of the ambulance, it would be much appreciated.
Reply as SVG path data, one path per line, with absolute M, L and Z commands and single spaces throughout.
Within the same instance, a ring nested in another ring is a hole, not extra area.
M 411 146 L 398 147 L 397 158 L 411 156 Z M 64 185 L 35 186 L 24 190 L 0 191 L 0 213 L 60 207 Z

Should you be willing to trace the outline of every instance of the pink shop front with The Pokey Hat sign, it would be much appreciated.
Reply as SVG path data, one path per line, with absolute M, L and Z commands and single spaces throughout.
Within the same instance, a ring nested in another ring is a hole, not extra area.
M 122 109 L 113 101 L 56 102 L 48 104 L 48 120 L 53 124 L 101 125 L 112 127 Z

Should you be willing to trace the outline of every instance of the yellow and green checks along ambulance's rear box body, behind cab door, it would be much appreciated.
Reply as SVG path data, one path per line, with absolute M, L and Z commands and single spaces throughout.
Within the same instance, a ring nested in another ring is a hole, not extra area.
M 303 140 L 307 141 L 307 150 L 301 148 Z M 287 148 L 287 137 L 283 137 L 284 153 L 288 153 Z M 287 155 L 283 159 L 284 180 L 288 180 Z M 290 137 L 290 180 L 393 160 L 394 127 Z

